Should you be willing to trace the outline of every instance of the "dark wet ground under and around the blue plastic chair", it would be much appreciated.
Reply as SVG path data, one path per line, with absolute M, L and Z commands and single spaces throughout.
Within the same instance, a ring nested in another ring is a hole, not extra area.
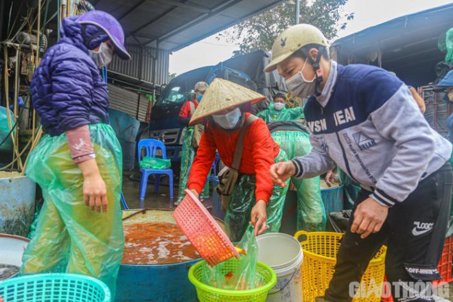
M 150 176 L 146 187 L 146 194 L 143 203 L 139 199 L 140 171 L 123 172 L 123 194 L 129 209 L 174 209 L 173 202 L 178 199 L 178 179 L 174 179 L 174 198 L 170 199 L 170 187 L 167 176 L 161 176 L 159 192 L 154 193 L 154 178 Z M 211 194 L 212 196 L 212 190 Z M 212 198 L 205 200 L 209 209 L 212 207 Z

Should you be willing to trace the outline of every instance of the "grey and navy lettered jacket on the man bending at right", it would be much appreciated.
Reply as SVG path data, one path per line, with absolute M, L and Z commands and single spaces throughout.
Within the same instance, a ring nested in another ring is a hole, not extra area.
M 310 97 L 304 113 L 313 150 L 292 160 L 295 177 L 311 178 L 338 165 L 382 205 L 404 201 L 452 153 L 408 87 L 377 67 L 332 61 L 323 93 Z

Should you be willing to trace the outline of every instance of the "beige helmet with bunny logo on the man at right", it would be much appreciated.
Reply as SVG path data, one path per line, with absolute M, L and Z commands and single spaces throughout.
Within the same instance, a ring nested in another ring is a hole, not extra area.
M 310 24 L 298 24 L 284 30 L 272 45 L 272 61 L 264 69 L 274 71 L 277 65 L 306 45 L 327 47 L 327 39 L 318 28 Z

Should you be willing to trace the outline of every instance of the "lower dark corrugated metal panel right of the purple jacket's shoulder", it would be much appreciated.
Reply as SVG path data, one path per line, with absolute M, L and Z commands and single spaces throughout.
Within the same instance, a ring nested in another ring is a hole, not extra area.
M 146 119 L 146 109 L 149 101 L 144 95 L 139 95 L 139 93 L 109 83 L 108 102 L 110 108 L 127 113 L 139 121 L 145 121 Z M 137 107 L 139 107 L 138 115 Z

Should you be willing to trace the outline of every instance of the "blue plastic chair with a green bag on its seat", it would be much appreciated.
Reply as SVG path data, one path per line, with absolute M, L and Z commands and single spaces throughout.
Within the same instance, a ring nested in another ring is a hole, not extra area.
M 162 159 L 167 159 L 167 150 L 165 149 L 165 145 L 163 142 L 157 139 L 142 139 L 139 141 L 139 163 L 141 161 L 141 149 L 145 148 L 146 156 L 156 157 L 156 150 L 162 150 Z M 141 172 L 141 179 L 140 179 L 140 191 L 139 191 L 139 198 L 140 202 L 143 202 L 145 199 L 146 193 L 146 185 L 148 185 L 148 176 L 154 174 L 155 181 L 154 181 L 154 192 L 159 192 L 159 184 L 161 182 L 161 174 L 168 175 L 170 178 L 170 199 L 173 199 L 173 170 L 172 169 L 163 169 L 163 170 L 156 170 L 156 169 L 140 169 Z

